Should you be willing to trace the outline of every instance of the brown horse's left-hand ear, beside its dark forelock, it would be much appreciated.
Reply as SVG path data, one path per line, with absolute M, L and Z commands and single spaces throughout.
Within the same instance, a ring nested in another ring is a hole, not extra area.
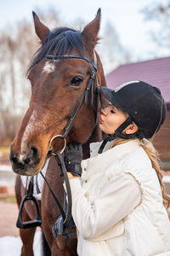
M 49 29 L 47 26 L 42 24 L 42 22 L 39 20 L 35 12 L 32 12 L 32 15 L 34 19 L 34 26 L 35 26 L 37 36 L 38 38 L 40 38 L 41 41 L 43 41 L 47 37 Z

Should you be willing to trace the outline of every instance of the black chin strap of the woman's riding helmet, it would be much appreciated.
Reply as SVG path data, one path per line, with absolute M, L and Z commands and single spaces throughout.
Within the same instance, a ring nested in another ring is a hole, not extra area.
M 128 125 L 132 124 L 132 122 L 133 122 L 133 118 L 131 116 L 129 116 L 122 123 L 122 125 L 120 125 L 116 129 L 114 134 L 110 134 L 108 137 L 105 138 L 105 140 L 103 141 L 103 143 L 99 147 L 98 153 L 101 154 L 103 152 L 104 148 L 105 148 L 106 143 L 113 141 L 116 137 L 121 137 L 121 138 L 124 138 L 124 139 L 129 139 L 129 138 L 134 138 L 134 137 L 142 137 L 142 136 L 139 135 L 139 133 L 137 134 L 138 131 L 134 132 L 133 134 L 122 133 L 122 131 L 125 130 Z

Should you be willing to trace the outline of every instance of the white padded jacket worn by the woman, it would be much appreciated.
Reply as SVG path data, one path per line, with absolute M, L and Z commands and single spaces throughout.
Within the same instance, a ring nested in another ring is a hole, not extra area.
M 168 256 L 170 223 L 161 187 L 138 140 L 82 160 L 82 179 L 72 178 L 72 215 L 79 256 Z

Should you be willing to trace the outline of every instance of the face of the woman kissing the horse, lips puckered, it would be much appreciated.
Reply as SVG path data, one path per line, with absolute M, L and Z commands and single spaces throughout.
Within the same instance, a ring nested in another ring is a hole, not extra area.
M 113 134 L 126 119 L 126 114 L 120 108 L 109 103 L 108 107 L 101 109 L 99 128 L 107 134 Z

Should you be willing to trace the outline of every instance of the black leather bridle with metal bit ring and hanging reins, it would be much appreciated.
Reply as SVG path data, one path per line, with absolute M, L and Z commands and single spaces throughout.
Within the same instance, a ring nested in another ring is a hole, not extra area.
M 48 181 L 46 180 L 46 178 L 43 176 L 42 172 L 41 175 L 44 178 L 45 182 L 48 185 L 48 189 L 50 190 L 50 192 L 52 193 L 54 200 L 56 201 L 59 210 L 61 212 L 61 216 L 62 218 L 58 218 L 58 220 L 56 221 L 56 223 L 54 224 L 53 227 L 53 235 L 54 237 L 56 237 L 57 235 L 62 235 L 62 236 L 66 236 L 67 238 L 71 238 L 71 235 L 68 235 L 69 230 L 71 230 L 70 224 L 71 224 L 71 205 L 72 205 L 72 200 L 71 200 L 71 188 L 70 188 L 70 183 L 67 177 L 67 172 L 65 169 L 65 162 L 63 160 L 63 156 L 62 153 L 65 150 L 66 147 L 66 137 L 69 133 L 69 131 L 71 131 L 71 126 L 74 122 L 74 120 L 77 117 L 77 114 L 79 113 L 80 109 L 82 108 L 82 105 L 84 102 L 87 102 L 88 99 L 88 94 L 91 90 L 92 93 L 92 100 L 91 100 L 91 104 L 94 102 L 94 79 L 96 80 L 96 89 L 95 89 L 95 95 L 96 95 L 96 114 L 95 114 L 95 125 L 97 123 L 97 119 L 98 119 L 98 105 L 99 105 L 99 101 L 101 104 L 101 107 L 104 108 L 103 102 L 102 102 L 102 98 L 101 98 L 101 94 L 100 94 L 100 90 L 99 90 L 99 81 L 97 78 L 97 57 L 96 54 L 94 53 L 94 61 L 88 59 L 87 56 L 84 55 L 77 55 L 77 54 L 65 54 L 65 55 L 47 55 L 47 58 L 50 60 L 62 60 L 62 59 L 81 59 L 84 61 L 88 61 L 88 63 L 90 63 L 93 67 L 92 72 L 90 73 L 90 78 L 88 79 L 88 85 L 86 87 L 86 90 L 84 91 L 84 94 L 82 96 L 82 101 L 79 103 L 75 113 L 71 116 L 71 118 L 68 120 L 67 124 L 65 125 L 65 128 L 62 132 L 62 135 L 55 135 L 54 137 L 52 137 L 52 139 L 49 142 L 49 151 L 48 154 L 54 154 L 54 158 L 57 160 L 60 169 L 61 169 L 61 173 L 65 178 L 65 187 L 66 187 L 66 194 L 65 194 L 65 206 L 66 207 L 62 207 L 59 203 L 59 200 L 57 199 L 56 195 L 54 195 L 54 191 L 50 188 Z M 60 152 L 53 152 L 53 148 L 51 147 L 51 143 L 53 142 L 54 138 L 60 137 L 64 140 L 64 148 L 62 148 L 62 150 Z M 66 196 L 67 196 L 67 201 L 66 201 Z M 63 230 L 62 227 L 65 227 L 65 230 Z M 57 234 L 56 234 L 57 233 Z

